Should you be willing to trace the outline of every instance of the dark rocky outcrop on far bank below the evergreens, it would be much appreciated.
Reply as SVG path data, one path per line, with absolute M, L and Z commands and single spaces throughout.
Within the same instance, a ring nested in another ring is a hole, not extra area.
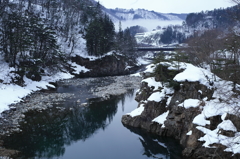
M 103 77 L 115 75 L 127 75 L 139 69 L 133 61 L 118 54 L 107 55 L 102 58 L 91 60 L 81 56 L 72 57 L 72 62 L 85 66 L 90 71 L 74 74 L 76 77 Z M 128 67 L 130 66 L 130 67 Z

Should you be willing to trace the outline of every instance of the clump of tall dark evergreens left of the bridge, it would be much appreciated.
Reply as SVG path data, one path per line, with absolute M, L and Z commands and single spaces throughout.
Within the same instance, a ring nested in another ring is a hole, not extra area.
M 115 32 L 112 20 L 106 14 L 99 14 L 92 19 L 86 28 L 87 50 L 89 55 L 102 56 L 105 53 L 116 50 L 125 56 L 134 58 L 134 47 L 137 43 L 130 28 L 122 30 L 119 22 L 119 30 Z

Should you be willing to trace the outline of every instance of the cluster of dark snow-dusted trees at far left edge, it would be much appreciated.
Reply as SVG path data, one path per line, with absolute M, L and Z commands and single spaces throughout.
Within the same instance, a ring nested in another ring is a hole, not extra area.
M 34 12 L 4 11 L 1 24 L 0 49 L 9 66 L 20 75 L 19 80 L 24 75 L 41 80 L 41 74 L 46 73 L 43 70 L 63 68 L 65 58 L 59 51 L 55 31 Z

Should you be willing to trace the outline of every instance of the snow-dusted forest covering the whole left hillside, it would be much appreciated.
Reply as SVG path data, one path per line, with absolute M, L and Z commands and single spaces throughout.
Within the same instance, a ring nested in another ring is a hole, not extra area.
M 91 0 L 0 0 L 0 53 L 15 68 L 12 81 L 23 85 L 24 76 L 40 81 L 42 75 L 66 71 L 80 35 L 89 55 L 102 56 L 122 45 L 101 7 Z

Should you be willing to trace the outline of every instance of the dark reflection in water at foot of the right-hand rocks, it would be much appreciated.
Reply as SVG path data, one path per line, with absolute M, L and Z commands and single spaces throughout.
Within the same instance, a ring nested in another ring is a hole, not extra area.
M 149 134 L 138 128 L 128 129 L 135 134 L 138 134 L 139 140 L 143 146 L 143 155 L 158 159 L 181 159 L 182 149 L 180 144 L 171 138 L 163 138 L 157 135 Z

